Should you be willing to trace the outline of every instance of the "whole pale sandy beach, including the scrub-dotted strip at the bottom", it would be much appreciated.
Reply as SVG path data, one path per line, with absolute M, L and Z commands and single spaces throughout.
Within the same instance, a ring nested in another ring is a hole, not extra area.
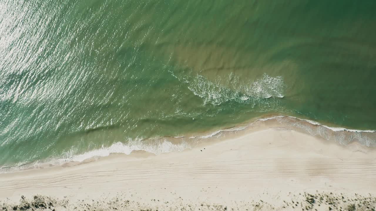
M 4 210 L 374 210 L 375 152 L 283 127 L 246 129 L 182 152 L 112 154 L 3 173 L 0 205 Z

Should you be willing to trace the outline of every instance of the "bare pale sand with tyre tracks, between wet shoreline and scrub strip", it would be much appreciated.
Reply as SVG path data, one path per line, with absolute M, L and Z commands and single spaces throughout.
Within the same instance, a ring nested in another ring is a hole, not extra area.
M 376 161 L 371 149 L 364 148 L 367 154 L 356 151 L 358 146 L 274 130 L 200 147 L 152 157 L 110 156 L 77 166 L 0 175 L 0 197 L 40 191 L 79 195 L 135 190 L 167 195 L 176 190 L 191 198 L 229 198 L 231 194 L 246 200 L 251 192 L 262 190 L 376 192 L 372 188 Z M 207 187 L 219 191 L 200 191 Z

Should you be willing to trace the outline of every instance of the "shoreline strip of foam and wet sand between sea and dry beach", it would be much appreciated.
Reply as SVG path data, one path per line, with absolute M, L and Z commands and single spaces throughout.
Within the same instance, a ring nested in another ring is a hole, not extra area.
M 288 121 L 284 121 L 284 120 Z M 276 122 L 277 121 L 277 122 Z M 262 123 L 261 123 L 262 122 Z M 259 124 L 261 123 L 261 124 Z M 374 147 L 376 146 L 376 130 L 353 130 L 353 129 L 347 129 L 347 128 L 341 128 L 341 127 L 329 127 L 327 125 L 320 124 L 319 122 L 315 122 L 308 119 L 300 119 L 298 117 L 293 116 L 283 116 L 283 115 L 264 115 L 259 118 L 251 119 L 250 121 L 240 123 L 238 125 L 234 125 L 232 127 L 227 127 L 215 131 L 208 131 L 206 133 L 200 133 L 200 134 L 187 134 L 185 136 L 164 136 L 160 137 L 158 139 L 146 139 L 146 140 L 137 140 L 138 143 L 134 143 L 133 145 L 129 146 L 129 143 L 121 143 L 117 142 L 113 145 L 111 145 L 108 148 L 101 148 L 101 149 L 95 149 L 93 151 L 88 151 L 83 154 L 73 155 L 73 157 L 70 158 L 47 158 L 42 161 L 33 161 L 31 163 L 22 163 L 15 166 L 2 166 L 0 167 L 0 174 L 2 173 L 9 173 L 14 171 L 22 171 L 22 170 L 29 170 L 29 169 L 38 169 L 38 168 L 46 168 L 46 167 L 52 167 L 52 166 L 59 166 L 59 165 L 65 165 L 69 163 L 82 163 L 86 160 L 96 159 L 97 157 L 107 157 L 111 154 L 116 153 L 123 153 L 126 155 L 129 155 L 133 153 L 133 151 L 147 151 L 151 152 L 153 154 L 161 154 L 161 153 L 168 153 L 168 152 L 180 152 L 185 149 L 191 149 L 193 148 L 197 142 L 201 141 L 210 141 L 210 139 L 217 139 L 218 137 L 222 136 L 225 133 L 235 133 L 236 131 L 242 131 L 247 130 L 247 128 L 253 127 L 252 130 L 260 130 L 260 125 L 262 127 L 267 127 L 265 125 L 275 125 L 279 124 L 279 127 L 287 127 L 292 130 L 297 130 L 299 132 L 310 134 L 312 136 L 320 136 L 321 138 L 326 139 L 327 141 L 334 141 L 338 142 L 341 145 L 347 145 L 351 142 L 359 142 L 362 145 L 368 146 L 368 147 Z M 301 125 L 294 125 L 294 124 L 301 124 Z M 316 131 L 312 130 L 314 128 L 319 127 Z M 326 131 L 323 131 L 322 129 Z M 352 137 L 353 134 L 357 134 L 357 136 Z M 359 135 L 360 134 L 360 135 Z M 365 138 L 365 142 L 362 142 L 360 139 L 361 134 Z M 337 137 L 345 139 L 347 137 L 352 137 L 351 140 L 337 140 Z M 370 136 L 371 139 L 367 136 Z M 374 140 L 372 140 L 374 138 Z M 331 140 L 332 139 L 332 140 Z M 356 140 L 358 139 L 358 140 Z M 373 141 L 373 142 L 370 142 Z M 155 143 L 153 143 L 155 142 Z M 168 146 L 162 146 L 162 149 L 157 149 L 153 146 L 153 144 L 157 147 L 161 147 L 162 145 L 168 145 Z M 149 146 L 150 149 L 147 149 Z M 164 148 L 163 148 L 164 147 Z M 168 149 L 170 147 L 170 149 Z M 156 150 L 156 151 L 155 151 Z

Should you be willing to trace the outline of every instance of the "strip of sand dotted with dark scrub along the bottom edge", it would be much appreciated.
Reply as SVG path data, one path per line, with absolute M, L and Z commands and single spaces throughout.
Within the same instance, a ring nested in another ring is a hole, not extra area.
M 282 197 L 282 196 L 281 196 Z M 138 198 L 139 199 L 139 198 Z M 0 211 L 270 211 L 270 210 L 333 210 L 333 211 L 375 211 L 376 197 L 355 194 L 335 193 L 299 193 L 289 194 L 286 200 L 258 199 L 248 202 L 237 202 L 235 205 L 220 203 L 192 202 L 176 197 L 169 202 L 163 199 L 145 200 L 148 203 L 132 200 L 132 195 L 117 194 L 116 197 L 102 197 L 100 200 L 59 200 L 53 197 L 36 195 L 33 197 L 21 196 L 18 203 L 0 201 Z

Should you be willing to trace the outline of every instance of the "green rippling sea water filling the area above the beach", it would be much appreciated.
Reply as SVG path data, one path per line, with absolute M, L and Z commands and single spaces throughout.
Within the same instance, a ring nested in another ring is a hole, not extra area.
M 144 149 L 265 115 L 368 130 L 344 139 L 374 146 L 375 11 L 350 0 L 0 0 L 0 166 Z

